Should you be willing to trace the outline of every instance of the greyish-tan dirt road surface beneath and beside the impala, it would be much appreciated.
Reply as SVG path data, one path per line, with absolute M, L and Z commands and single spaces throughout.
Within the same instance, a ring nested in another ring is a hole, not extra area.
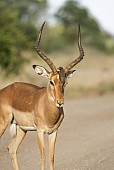
M 6 149 L 10 139 L 6 131 L 0 140 L 0 170 L 12 169 Z M 37 134 L 29 132 L 18 151 L 20 170 L 40 169 L 39 160 Z M 66 101 L 55 170 L 114 170 L 114 96 Z

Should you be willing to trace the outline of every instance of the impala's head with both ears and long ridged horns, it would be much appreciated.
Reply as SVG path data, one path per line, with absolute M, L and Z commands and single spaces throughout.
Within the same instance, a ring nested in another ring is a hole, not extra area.
M 51 72 L 39 65 L 33 65 L 38 75 L 44 76 L 49 79 L 48 88 L 50 92 L 50 98 L 53 100 L 57 107 L 62 107 L 64 104 L 64 88 L 68 84 L 67 79 L 71 77 L 75 70 L 71 70 L 76 64 L 78 64 L 84 56 L 84 51 L 81 45 L 81 33 L 80 26 L 78 29 L 78 48 L 80 55 L 78 58 L 73 60 L 67 67 L 56 68 L 53 62 L 40 50 L 39 43 L 41 40 L 42 30 L 45 22 L 43 23 L 38 39 L 35 43 L 35 50 L 37 54 L 49 65 Z

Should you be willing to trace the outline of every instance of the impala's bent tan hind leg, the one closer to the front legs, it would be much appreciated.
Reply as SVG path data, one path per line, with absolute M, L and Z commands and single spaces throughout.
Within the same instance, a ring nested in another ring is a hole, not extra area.
M 8 151 L 12 160 L 13 169 L 18 170 L 18 163 L 17 163 L 17 149 L 21 144 L 22 140 L 24 139 L 26 132 L 23 131 L 20 127 L 17 126 L 17 134 L 12 139 L 11 143 L 8 146 Z

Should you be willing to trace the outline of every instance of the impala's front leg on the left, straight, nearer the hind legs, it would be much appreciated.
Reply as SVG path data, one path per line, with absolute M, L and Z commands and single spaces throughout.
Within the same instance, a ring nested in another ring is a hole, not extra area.
M 38 131 L 38 145 L 41 156 L 41 170 L 45 167 L 45 144 L 44 144 L 44 132 Z

